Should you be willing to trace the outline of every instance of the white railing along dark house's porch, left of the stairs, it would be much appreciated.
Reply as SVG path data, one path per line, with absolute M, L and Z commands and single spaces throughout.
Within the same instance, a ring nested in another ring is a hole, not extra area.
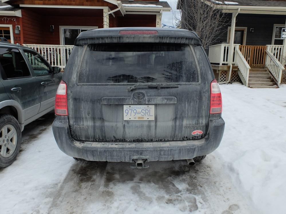
M 209 47 L 208 51 L 208 58 L 210 63 L 216 63 L 219 65 L 228 64 L 228 51 L 229 51 L 229 44 L 218 44 L 212 45 Z M 235 50 L 239 48 L 239 44 L 234 44 L 234 55 L 232 63 L 234 63 L 235 59 Z

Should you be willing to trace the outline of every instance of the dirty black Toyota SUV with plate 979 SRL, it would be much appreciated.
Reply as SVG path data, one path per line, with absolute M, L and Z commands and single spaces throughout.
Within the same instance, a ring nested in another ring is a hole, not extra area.
M 220 144 L 221 112 L 220 89 L 196 33 L 96 29 L 75 41 L 56 94 L 53 132 L 77 160 L 192 165 Z

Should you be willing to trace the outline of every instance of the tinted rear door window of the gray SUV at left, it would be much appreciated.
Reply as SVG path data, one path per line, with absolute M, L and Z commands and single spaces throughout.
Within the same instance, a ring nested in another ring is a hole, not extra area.
M 29 68 L 18 49 L 0 48 L 1 75 L 3 79 L 29 77 Z

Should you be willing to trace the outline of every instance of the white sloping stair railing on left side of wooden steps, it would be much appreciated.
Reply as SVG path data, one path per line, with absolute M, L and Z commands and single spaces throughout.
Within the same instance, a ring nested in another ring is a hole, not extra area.
M 238 72 L 238 75 L 240 76 L 240 79 L 242 80 L 243 84 L 248 87 L 248 77 L 249 77 L 249 69 L 250 66 L 248 65 L 247 61 L 245 60 L 244 56 L 240 52 L 240 50 L 236 49 L 236 55 L 235 55 L 235 65 L 238 66 L 238 69 L 240 72 Z

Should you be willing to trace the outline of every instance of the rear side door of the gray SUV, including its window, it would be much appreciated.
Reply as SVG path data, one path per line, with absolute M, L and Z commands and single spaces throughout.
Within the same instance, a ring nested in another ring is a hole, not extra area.
M 16 48 L 0 47 L 0 64 L 7 95 L 21 105 L 25 120 L 33 117 L 40 109 L 40 93 L 23 55 Z

